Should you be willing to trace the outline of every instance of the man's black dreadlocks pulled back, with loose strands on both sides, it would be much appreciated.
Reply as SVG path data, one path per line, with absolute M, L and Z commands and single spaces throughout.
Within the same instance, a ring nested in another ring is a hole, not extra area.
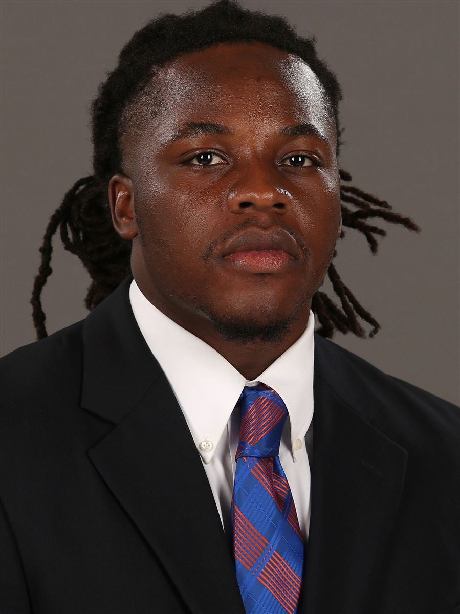
M 182 53 L 192 53 L 224 42 L 259 41 L 294 53 L 302 58 L 316 74 L 326 92 L 326 103 L 337 128 L 337 157 L 341 142 L 338 103 L 342 99 L 337 77 L 327 64 L 316 55 L 316 37 L 298 36 L 286 19 L 241 7 L 239 0 L 214 0 L 205 8 L 188 10 L 182 15 L 160 14 L 147 21 L 120 52 L 119 63 L 107 73 L 99 85 L 92 102 L 93 174 L 79 179 L 53 213 L 40 247 L 41 265 L 34 279 L 31 298 L 33 321 L 37 339 L 47 336 L 41 292 L 52 273 L 52 237 L 60 229 L 64 248 L 77 255 L 90 274 L 92 282 L 85 298 L 87 309 L 93 309 L 131 273 L 131 241 L 120 238 L 111 221 L 107 187 L 114 174 L 122 171 L 123 141 L 145 125 L 146 114 L 155 117 L 161 104 L 159 85 L 155 74 L 166 62 Z M 351 181 L 351 175 L 340 169 L 340 179 Z M 379 217 L 387 222 L 403 225 L 419 232 L 408 217 L 391 211 L 391 205 L 352 185 L 341 184 L 342 226 L 361 232 L 376 254 L 376 236 L 386 231 L 367 220 Z M 351 209 L 354 206 L 356 209 Z M 340 238 L 345 236 L 341 231 Z M 337 250 L 333 252 L 333 258 Z M 318 333 L 332 338 L 334 330 L 353 332 L 365 337 L 357 316 L 373 326 L 369 336 L 380 325 L 356 300 L 353 293 L 338 276 L 333 263 L 328 270 L 334 292 L 340 298 L 340 307 L 319 290 L 313 296 L 311 309 L 321 324 Z

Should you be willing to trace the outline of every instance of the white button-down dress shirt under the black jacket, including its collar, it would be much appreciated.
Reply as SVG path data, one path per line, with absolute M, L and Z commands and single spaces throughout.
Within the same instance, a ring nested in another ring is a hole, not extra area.
M 141 333 L 184 413 L 226 534 L 231 530 L 230 507 L 240 432 L 240 411 L 235 405 L 244 386 L 259 382 L 283 398 L 289 418 L 284 424 L 279 459 L 306 542 L 310 526 L 308 457 L 311 459 L 313 454 L 313 311 L 298 340 L 249 381 L 214 348 L 152 305 L 134 279 L 130 302 Z

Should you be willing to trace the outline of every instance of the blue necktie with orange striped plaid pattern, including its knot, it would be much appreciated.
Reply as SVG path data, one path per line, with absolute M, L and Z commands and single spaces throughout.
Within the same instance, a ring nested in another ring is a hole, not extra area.
M 247 614 L 294 614 L 302 591 L 304 545 L 279 461 L 287 418 L 265 384 L 244 386 L 232 498 L 236 580 Z

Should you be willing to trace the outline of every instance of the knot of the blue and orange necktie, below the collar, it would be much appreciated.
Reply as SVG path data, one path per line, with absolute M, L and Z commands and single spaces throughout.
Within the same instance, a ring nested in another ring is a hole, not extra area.
M 287 418 L 283 399 L 270 386 L 244 386 L 240 395 L 240 456 L 267 458 L 279 456 L 279 443 Z

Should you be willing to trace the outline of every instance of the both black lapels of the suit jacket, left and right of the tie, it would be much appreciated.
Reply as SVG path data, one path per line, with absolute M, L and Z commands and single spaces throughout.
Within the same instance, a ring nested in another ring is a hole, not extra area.
M 228 536 L 182 411 L 134 319 L 131 280 L 84 324 L 81 405 L 114 424 L 88 456 L 190 611 L 243 613 Z M 372 610 L 407 452 L 372 426 L 383 402 L 368 381 L 316 333 L 314 403 L 301 612 L 364 613 Z M 162 449 L 171 446 L 166 462 Z

